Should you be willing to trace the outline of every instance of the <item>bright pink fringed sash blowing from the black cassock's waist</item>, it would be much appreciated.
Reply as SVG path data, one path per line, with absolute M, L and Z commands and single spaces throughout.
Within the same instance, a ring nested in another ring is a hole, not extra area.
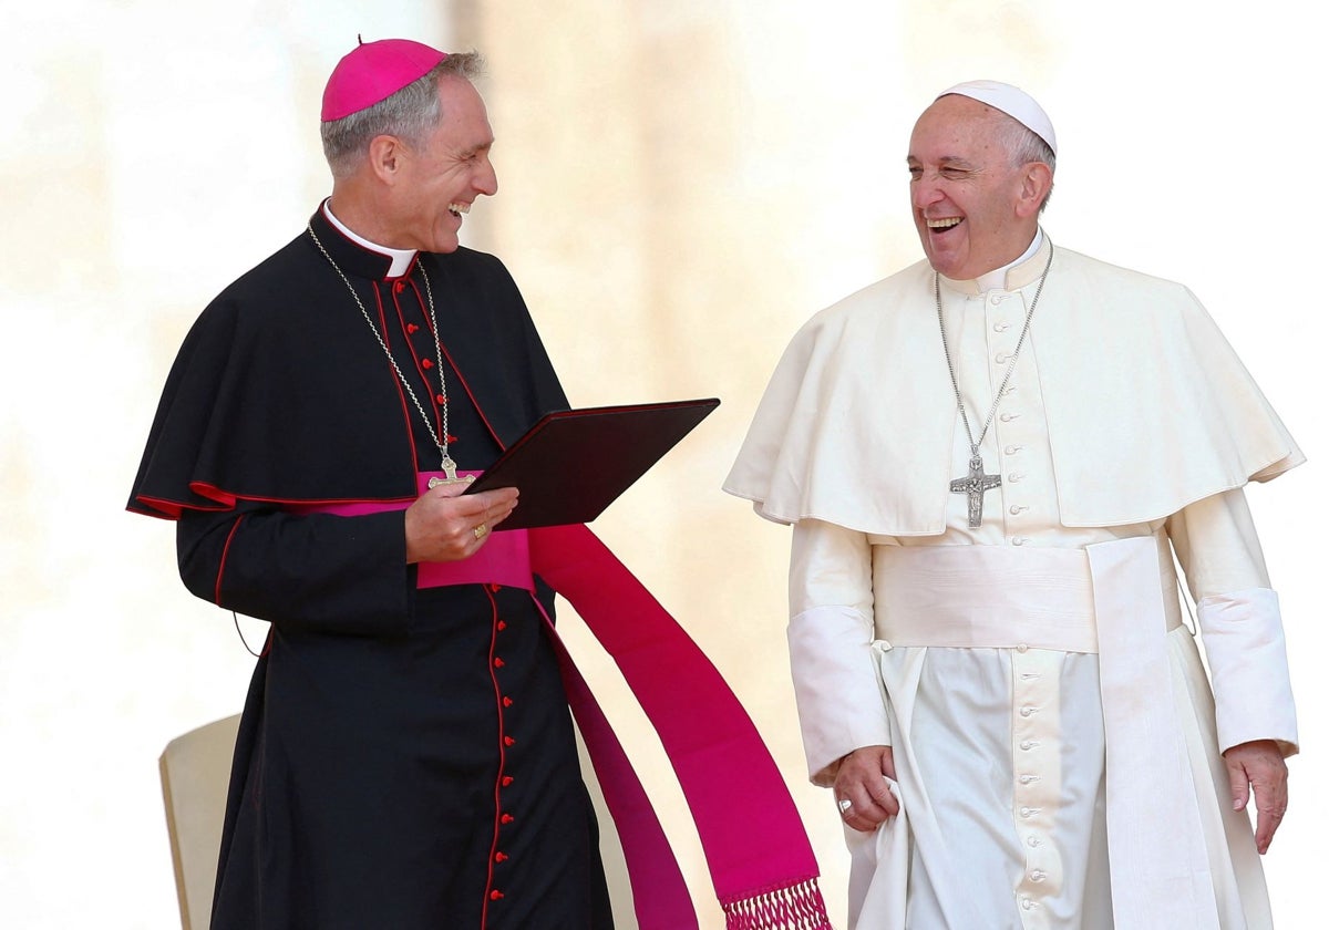
M 420 493 L 437 474 L 420 474 Z M 298 510 L 354 517 L 408 505 L 358 502 Z M 534 597 L 534 575 L 577 610 L 655 727 L 692 812 L 726 926 L 831 930 L 812 846 L 756 727 L 706 654 L 594 533 L 581 525 L 498 530 L 468 559 L 421 563 L 416 583 L 493 583 L 522 587 Z M 638 923 L 642 930 L 695 929 L 687 886 L 646 790 L 553 622 L 545 616 L 545 623 L 569 705 L 623 845 Z M 742 787 L 742 804 L 734 802 L 735 787 Z

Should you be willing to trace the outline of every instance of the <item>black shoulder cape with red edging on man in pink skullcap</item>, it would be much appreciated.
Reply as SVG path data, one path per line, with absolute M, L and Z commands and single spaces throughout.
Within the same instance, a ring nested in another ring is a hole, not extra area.
M 388 259 L 310 221 L 369 312 Z M 433 288 L 445 351 L 500 446 L 566 409 L 540 336 L 502 263 L 484 252 L 417 255 L 403 278 Z M 384 416 L 384 411 L 389 413 Z M 416 494 L 413 404 L 346 282 L 308 231 L 227 287 L 186 336 L 166 380 L 129 510 L 392 501 Z M 400 454 L 384 454 L 391 453 Z

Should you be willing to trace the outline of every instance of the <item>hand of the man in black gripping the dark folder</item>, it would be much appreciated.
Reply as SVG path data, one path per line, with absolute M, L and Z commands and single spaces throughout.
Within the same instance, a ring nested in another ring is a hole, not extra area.
M 517 506 L 516 488 L 462 497 L 465 489 L 439 485 L 407 508 L 407 562 L 457 562 L 473 555 Z

